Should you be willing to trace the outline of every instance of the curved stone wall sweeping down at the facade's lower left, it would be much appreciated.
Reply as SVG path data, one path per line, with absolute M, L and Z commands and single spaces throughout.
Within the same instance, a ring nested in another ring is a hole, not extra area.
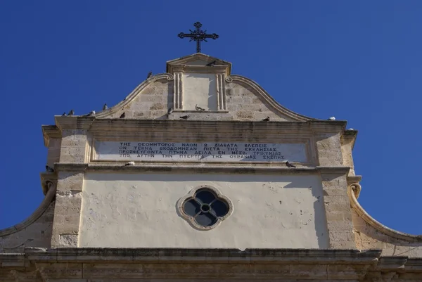
M 30 217 L 11 228 L 0 230 L 0 252 L 23 252 L 26 247 L 50 248 L 54 205 L 55 202 L 51 202 L 37 219 Z M 31 220 L 34 222 L 30 223 Z

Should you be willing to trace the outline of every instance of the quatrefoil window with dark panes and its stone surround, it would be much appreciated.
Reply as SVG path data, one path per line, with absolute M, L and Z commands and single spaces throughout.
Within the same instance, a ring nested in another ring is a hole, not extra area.
M 179 212 L 192 226 L 200 230 L 215 228 L 233 211 L 233 205 L 216 188 L 200 186 L 178 203 Z

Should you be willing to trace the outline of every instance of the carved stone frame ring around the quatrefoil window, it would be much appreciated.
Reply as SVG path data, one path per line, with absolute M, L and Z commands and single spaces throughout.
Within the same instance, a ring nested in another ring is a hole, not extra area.
M 196 193 L 198 193 L 198 191 L 202 189 L 211 191 L 211 193 L 215 194 L 215 197 L 218 200 L 224 201 L 229 208 L 227 213 L 223 217 L 217 217 L 217 221 L 215 222 L 215 224 L 212 224 L 211 226 L 203 226 L 203 225 L 198 224 L 194 217 L 191 217 L 189 214 L 186 214 L 186 212 L 184 212 L 184 203 L 188 200 L 194 199 Z M 231 203 L 231 200 L 227 198 L 226 196 L 224 196 L 217 188 L 210 185 L 200 185 L 193 188 L 191 191 L 189 191 L 189 193 L 186 196 L 180 198 L 177 201 L 177 212 L 183 219 L 186 220 L 186 222 L 188 222 L 188 224 L 193 226 L 195 229 L 198 229 L 200 231 L 207 231 L 210 229 L 215 229 L 215 227 L 219 226 L 219 224 L 221 224 L 224 221 L 224 219 L 226 219 L 233 213 L 233 203 Z

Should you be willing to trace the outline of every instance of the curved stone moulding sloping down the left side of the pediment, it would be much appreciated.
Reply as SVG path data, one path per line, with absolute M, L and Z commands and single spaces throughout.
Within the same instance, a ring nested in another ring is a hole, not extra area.
M 138 96 L 138 94 L 141 93 L 141 91 L 145 89 L 149 84 L 157 82 L 161 79 L 167 79 L 167 81 L 172 81 L 174 77 L 170 73 L 160 73 L 158 75 L 153 75 L 152 77 L 144 80 L 141 84 L 139 84 L 126 98 L 124 98 L 123 101 L 117 103 L 117 105 L 114 105 L 113 107 L 108 108 L 107 110 L 103 110 L 99 113 L 96 113 L 95 117 L 98 119 L 103 119 L 109 117 L 110 115 L 113 115 L 114 113 L 117 113 L 117 111 L 121 110 L 126 105 L 132 103 L 136 96 Z

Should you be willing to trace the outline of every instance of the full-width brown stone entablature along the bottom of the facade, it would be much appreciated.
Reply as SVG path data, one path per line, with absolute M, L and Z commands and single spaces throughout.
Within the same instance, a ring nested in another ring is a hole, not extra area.
M 25 248 L 0 255 L 6 281 L 421 281 L 421 272 L 422 259 L 381 257 L 381 250 Z

